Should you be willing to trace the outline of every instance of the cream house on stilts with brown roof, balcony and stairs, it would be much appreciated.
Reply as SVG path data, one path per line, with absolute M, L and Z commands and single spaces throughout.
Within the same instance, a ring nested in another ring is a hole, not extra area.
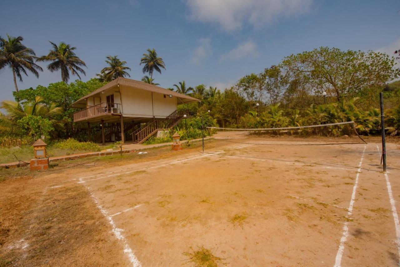
M 200 100 L 145 82 L 116 78 L 80 98 L 71 106 L 74 122 L 86 122 L 88 136 L 102 141 L 127 140 L 141 144 L 160 130 L 170 129 L 191 111 L 179 104 Z M 96 125 L 95 127 L 91 127 Z M 97 138 L 96 138 L 97 137 Z

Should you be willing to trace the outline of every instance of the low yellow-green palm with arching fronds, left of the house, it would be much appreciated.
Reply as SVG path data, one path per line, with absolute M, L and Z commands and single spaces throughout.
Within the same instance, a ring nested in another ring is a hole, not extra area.
M 55 129 L 62 129 L 65 120 L 59 120 L 63 109 L 58 107 L 56 103 L 49 106 L 43 103 L 43 98 L 36 96 L 35 101 L 20 102 L 4 100 L 0 102 L 0 108 L 6 111 L 6 114 L 0 112 L 0 134 L 18 136 L 22 131 L 18 121 L 26 116 L 40 116 L 47 118 Z

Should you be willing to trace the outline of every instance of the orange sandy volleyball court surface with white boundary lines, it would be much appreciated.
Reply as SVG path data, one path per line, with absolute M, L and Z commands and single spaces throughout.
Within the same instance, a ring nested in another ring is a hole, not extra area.
M 391 205 L 377 144 L 222 139 L 204 154 L 64 174 L 47 190 L 87 191 L 122 265 L 195 266 L 202 248 L 218 266 L 398 265 L 396 145 Z

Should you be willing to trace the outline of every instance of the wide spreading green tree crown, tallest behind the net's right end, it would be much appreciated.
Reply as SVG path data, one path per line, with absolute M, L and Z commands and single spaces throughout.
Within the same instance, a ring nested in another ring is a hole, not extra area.
M 314 93 L 327 92 L 337 101 L 365 90 L 378 92 L 400 74 L 387 54 L 328 47 L 287 56 L 281 67 L 295 77 L 306 76 Z

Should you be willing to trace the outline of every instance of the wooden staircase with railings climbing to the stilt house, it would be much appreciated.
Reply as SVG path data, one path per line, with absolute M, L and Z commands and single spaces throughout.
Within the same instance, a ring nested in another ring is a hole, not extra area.
M 176 126 L 176 124 L 178 124 L 178 122 L 180 122 L 180 120 L 182 120 L 182 118 L 184 118 L 183 115 L 185 114 L 189 117 L 192 115 L 192 112 L 188 109 L 175 110 L 165 119 L 152 120 L 144 124 L 132 132 L 133 143 L 142 144 L 148 138 L 156 134 L 156 132 L 173 128 Z

